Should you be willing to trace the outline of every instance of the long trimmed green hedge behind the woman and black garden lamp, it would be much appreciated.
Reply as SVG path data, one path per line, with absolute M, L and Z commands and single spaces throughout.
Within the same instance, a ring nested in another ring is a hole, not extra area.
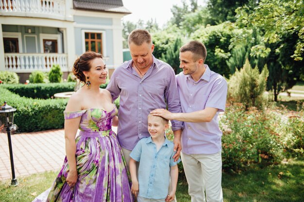
M 101 88 L 105 88 L 102 84 Z M 63 128 L 63 111 L 68 99 L 49 99 L 55 93 L 73 91 L 75 82 L 49 84 L 3 84 L 0 103 L 7 101 L 16 108 L 14 123 L 20 132 L 34 132 Z M 42 100 L 42 99 L 46 100 Z M 119 108 L 119 99 L 115 102 Z

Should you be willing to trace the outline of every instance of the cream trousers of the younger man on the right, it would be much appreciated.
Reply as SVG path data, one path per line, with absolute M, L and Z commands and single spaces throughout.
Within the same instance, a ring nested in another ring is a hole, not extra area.
M 185 154 L 182 162 L 191 202 L 223 202 L 221 189 L 221 152 Z

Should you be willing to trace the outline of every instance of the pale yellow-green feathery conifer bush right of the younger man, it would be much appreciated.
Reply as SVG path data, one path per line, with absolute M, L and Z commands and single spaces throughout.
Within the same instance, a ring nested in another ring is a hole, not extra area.
M 243 68 L 240 71 L 236 69 L 235 74 L 230 77 L 228 97 L 231 96 L 234 101 L 243 103 L 246 110 L 249 107 L 262 108 L 266 102 L 263 94 L 266 90 L 268 74 L 266 66 L 260 74 L 258 68 L 252 68 L 246 59 Z

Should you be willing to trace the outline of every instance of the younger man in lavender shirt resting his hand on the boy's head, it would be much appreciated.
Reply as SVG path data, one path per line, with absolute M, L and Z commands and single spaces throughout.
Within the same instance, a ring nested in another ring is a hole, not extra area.
M 225 110 L 227 82 L 204 65 L 207 51 L 198 41 L 180 48 L 176 76 L 183 113 L 156 109 L 151 113 L 185 121 L 182 133 L 182 162 L 191 202 L 222 202 L 221 135 L 218 116 Z

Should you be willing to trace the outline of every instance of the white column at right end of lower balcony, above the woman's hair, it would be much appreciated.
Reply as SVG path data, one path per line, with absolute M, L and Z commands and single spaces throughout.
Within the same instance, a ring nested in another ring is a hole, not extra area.
M 74 26 L 73 22 L 67 22 L 67 30 L 64 32 L 66 36 L 66 47 L 65 47 L 65 52 L 68 53 L 68 63 L 67 63 L 67 68 L 68 71 L 71 71 L 73 64 L 75 62 L 75 34 L 74 34 Z

